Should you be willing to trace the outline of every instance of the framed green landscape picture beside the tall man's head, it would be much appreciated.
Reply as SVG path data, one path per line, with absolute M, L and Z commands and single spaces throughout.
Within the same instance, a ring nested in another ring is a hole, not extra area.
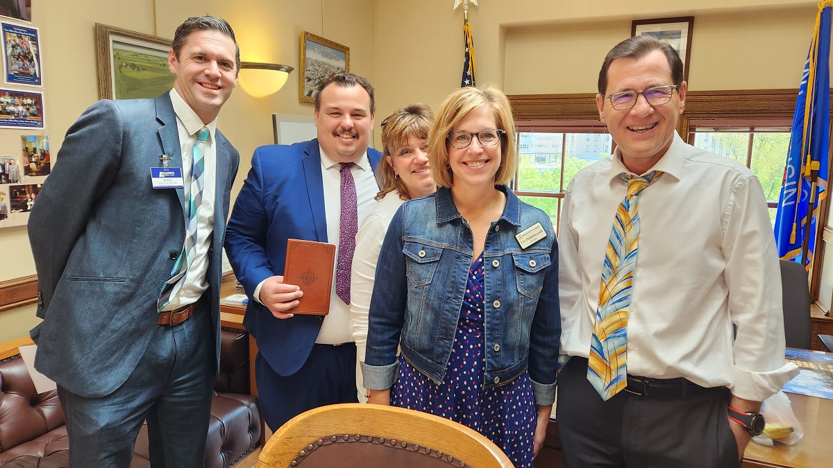
M 173 87 L 171 41 L 96 23 L 99 99 L 157 97 Z

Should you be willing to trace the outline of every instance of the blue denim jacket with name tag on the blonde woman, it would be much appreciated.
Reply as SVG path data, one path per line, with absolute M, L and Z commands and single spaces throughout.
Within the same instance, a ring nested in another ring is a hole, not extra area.
M 491 223 L 483 250 L 484 387 L 500 386 L 526 369 L 538 405 L 555 399 L 561 314 L 558 248 L 544 212 L 511 190 Z M 546 236 L 521 248 L 516 234 L 541 223 Z M 397 379 L 397 346 L 416 369 L 440 384 L 473 255 L 473 236 L 445 187 L 405 202 L 387 230 L 369 312 L 364 386 L 383 390 Z

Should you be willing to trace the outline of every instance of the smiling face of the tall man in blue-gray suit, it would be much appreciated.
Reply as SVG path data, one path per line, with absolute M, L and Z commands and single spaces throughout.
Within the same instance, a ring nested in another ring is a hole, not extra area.
M 189 34 L 178 58 L 173 49 L 167 53 L 167 66 L 176 77 L 173 88 L 202 123 L 217 118 L 237 86 L 235 57 L 232 38 L 212 30 Z

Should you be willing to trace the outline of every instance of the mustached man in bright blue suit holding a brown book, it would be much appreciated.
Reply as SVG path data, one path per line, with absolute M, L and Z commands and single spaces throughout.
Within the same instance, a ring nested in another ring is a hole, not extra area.
M 326 317 L 293 316 L 303 291 L 282 275 L 287 239 L 341 243 L 336 263 L 347 262 L 349 274 L 349 237 L 355 246 L 355 226 L 379 189 L 374 171 L 382 154 L 367 147 L 373 119 L 367 80 L 347 72 L 327 77 L 315 95 L 317 138 L 257 148 L 234 203 L 226 251 L 253 299 L 243 324 L 257 339 L 257 393 L 272 430 L 312 408 L 358 401 L 349 290 L 337 294 L 344 278 L 333 281 Z M 345 221 L 350 209 L 342 203 L 352 196 L 342 193 L 353 184 L 357 217 Z

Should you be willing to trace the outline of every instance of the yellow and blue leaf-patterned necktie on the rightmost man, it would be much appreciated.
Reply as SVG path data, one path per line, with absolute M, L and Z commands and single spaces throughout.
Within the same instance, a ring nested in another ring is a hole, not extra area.
M 616 220 L 607 242 L 605 264 L 601 268 L 599 308 L 587 360 L 587 380 L 604 401 L 627 386 L 627 318 L 639 243 L 636 203 L 640 192 L 661 175 L 661 171 L 652 171 L 643 177 L 620 174 L 627 182 L 627 195 L 616 208 Z

